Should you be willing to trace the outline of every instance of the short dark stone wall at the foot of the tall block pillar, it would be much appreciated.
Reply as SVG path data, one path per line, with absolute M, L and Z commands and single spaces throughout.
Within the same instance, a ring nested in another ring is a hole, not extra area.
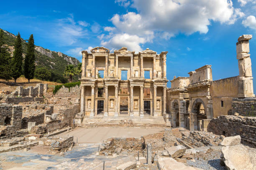
M 231 110 L 228 115 L 234 115 L 238 112 L 243 116 L 256 116 L 256 97 L 252 98 L 233 98 Z

